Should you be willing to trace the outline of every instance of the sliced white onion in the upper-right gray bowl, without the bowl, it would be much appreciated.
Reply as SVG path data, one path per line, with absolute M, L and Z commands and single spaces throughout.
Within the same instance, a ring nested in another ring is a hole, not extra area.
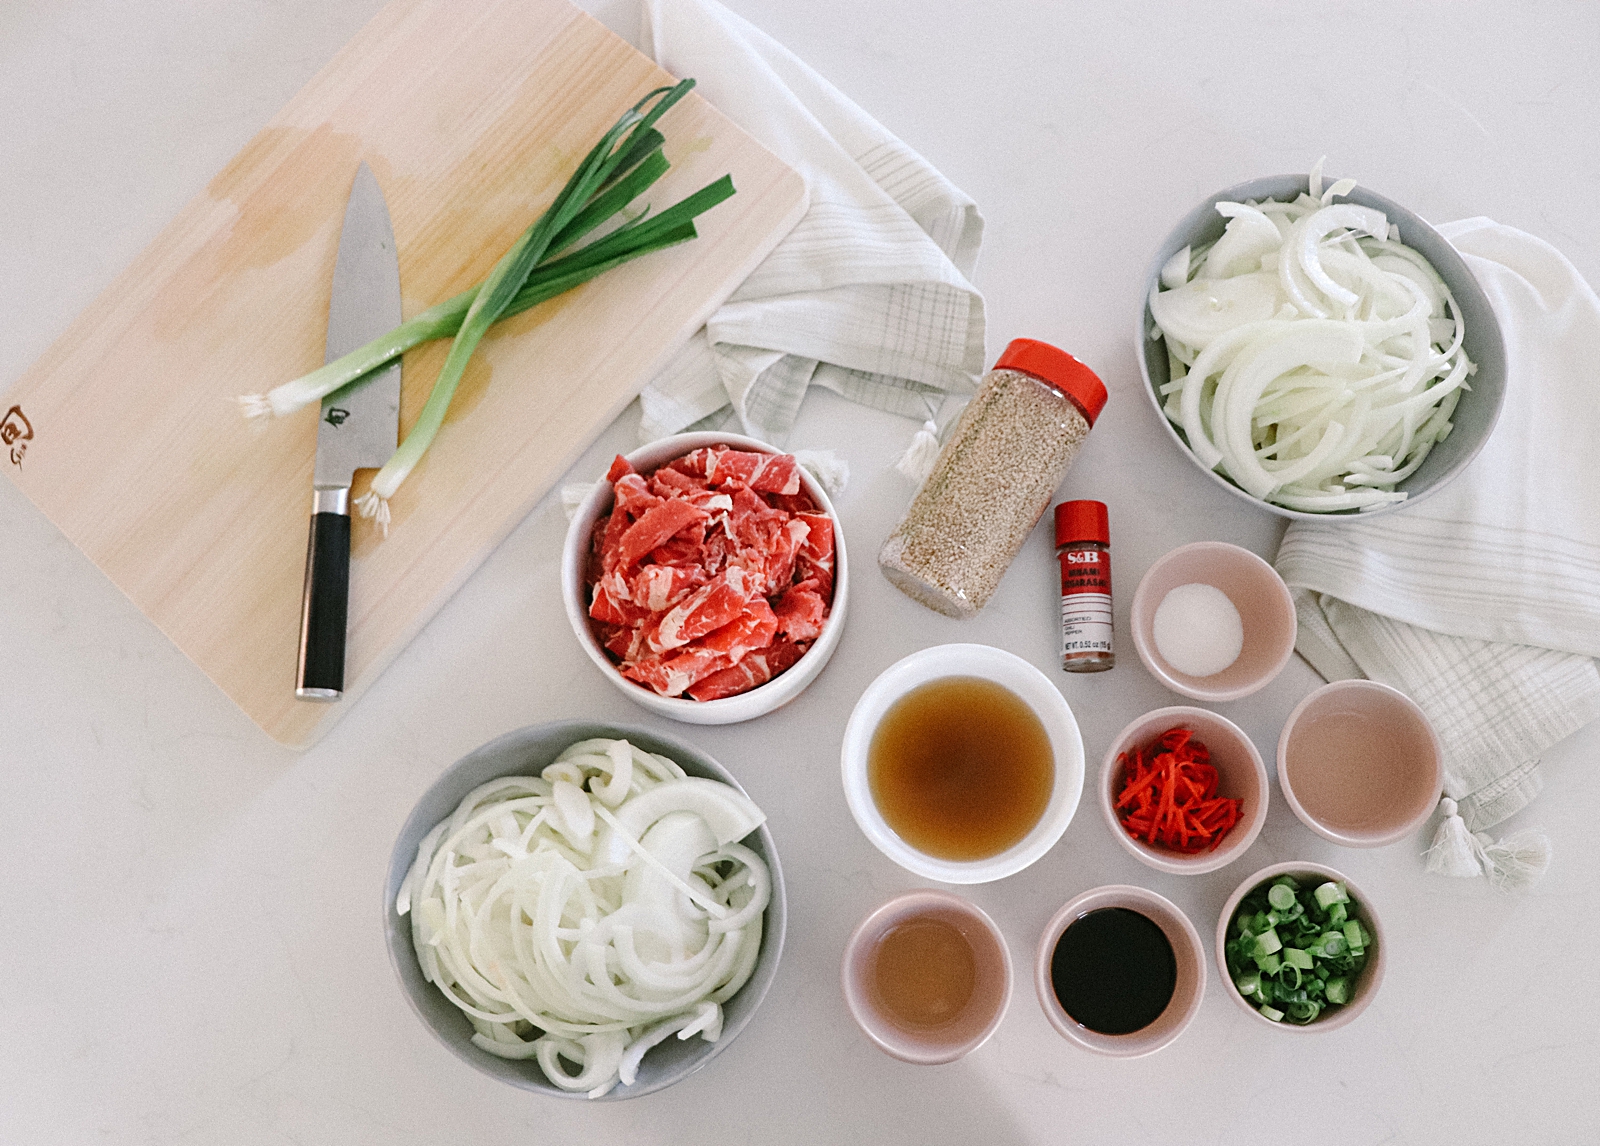
M 1171 367 L 1163 410 L 1203 466 L 1253 496 L 1374 509 L 1405 498 L 1394 487 L 1450 434 L 1475 367 L 1427 259 L 1381 211 L 1333 203 L 1352 181 L 1314 184 L 1286 203 L 1218 203 L 1229 224 L 1186 264 L 1200 272 L 1163 274 L 1150 296 Z

